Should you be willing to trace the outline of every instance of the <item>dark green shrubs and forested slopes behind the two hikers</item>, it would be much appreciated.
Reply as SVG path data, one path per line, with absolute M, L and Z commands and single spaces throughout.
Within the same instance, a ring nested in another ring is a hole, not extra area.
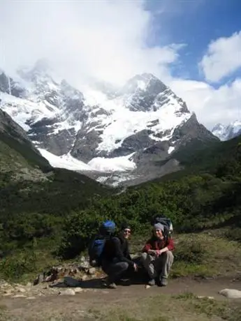
M 28 168 L 22 149 L 3 139 L 0 148 L 3 163 L 15 159 Z M 164 214 L 177 233 L 228 226 L 226 237 L 241 241 L 241 137 L 197 149 L 175 155 L 184 170 L 122 193 L 48 163 L 45 169 L 38 162 L 29 165 L 41 179 L 13 179 L 16 167 L 1 170 L 0 273 L 36 271 L 40 253 L 48 252 L 45 264 L 79 255 L 106 218 L 117 225 L 129 221 L 138 236 L 149 230 L 152 216 Z

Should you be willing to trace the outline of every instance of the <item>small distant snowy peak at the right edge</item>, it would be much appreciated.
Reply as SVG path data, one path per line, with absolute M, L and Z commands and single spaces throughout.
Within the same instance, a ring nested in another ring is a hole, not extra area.
M 229 125 L 217 124 L 212 129 L 212 133 L 219 137 L 220 140 L 231 140 L 241 135 L 241 121 L 233 121 Z

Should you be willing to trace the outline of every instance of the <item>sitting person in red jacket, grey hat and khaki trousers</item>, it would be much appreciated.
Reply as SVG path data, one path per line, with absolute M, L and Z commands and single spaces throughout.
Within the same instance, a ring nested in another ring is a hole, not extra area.
M 156 284 L 159 278 L 161 286 L 168 285 L 168 275 L 173 264 L 173 239 L 164 234 L 161 223 L 154 225 L 154 234 L 143 248 L 141 262 L 149 274 L 149 285 Z

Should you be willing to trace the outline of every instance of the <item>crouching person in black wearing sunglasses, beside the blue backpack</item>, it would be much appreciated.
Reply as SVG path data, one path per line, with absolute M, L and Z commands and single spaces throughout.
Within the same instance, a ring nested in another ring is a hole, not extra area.
M 119 281 L 128 269 L 137 271 L 137 265 L 131 260 L 129 253 L 128 239 L 130 234 L 131 227 L 122 225 L 121 232 L 117 236 L 110 237 L 105 243 L 101 267 L 108 275 L 106 281 L 108 288 L 117 288 L 115 282 Z

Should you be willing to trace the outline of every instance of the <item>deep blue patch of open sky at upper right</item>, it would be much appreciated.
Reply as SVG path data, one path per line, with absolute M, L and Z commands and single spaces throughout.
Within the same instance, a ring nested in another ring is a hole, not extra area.
M 175 77 L 204 80 L 198 70 L 207 45 L 217 38 L 230 37 L 241 30 L 241 1 L 189 0 L 147 1 L 153 13 L 156 34 L 152 45 L 184 43 L 180 59 L 172 67 Z M 163 33 L 166 36 L 163 38 Z M 240 53 L 241 54 L 241 53 Z M 215 87 L 241 75 L 240 68 L 233 75 L 218 82 Z

